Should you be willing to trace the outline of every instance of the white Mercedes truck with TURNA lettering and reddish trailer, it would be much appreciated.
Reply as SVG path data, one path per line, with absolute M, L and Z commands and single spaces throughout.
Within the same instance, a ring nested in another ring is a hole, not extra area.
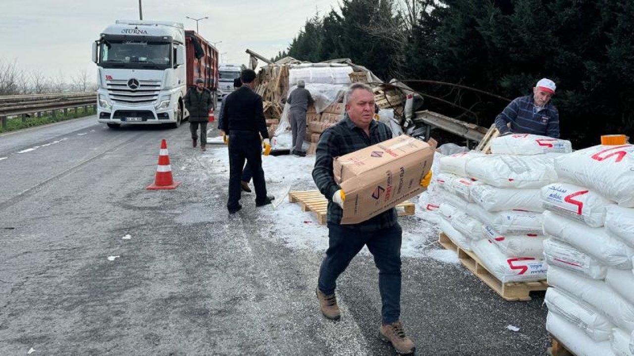
M 197 78 L 217 98 L 218 51 L 182 23 L 117 20 L 93 42 L 93 62 L 98 121 L 110 128 L 178 127 L 189 117 L 183 98 Z

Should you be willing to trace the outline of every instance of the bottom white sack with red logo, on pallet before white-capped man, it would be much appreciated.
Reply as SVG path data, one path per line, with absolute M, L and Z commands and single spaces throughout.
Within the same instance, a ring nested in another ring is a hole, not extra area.
M 472 241 L 471 249 L 502 283 L 545 279 L 547 265 L 530 257 L 507 257 L 488 239 Z

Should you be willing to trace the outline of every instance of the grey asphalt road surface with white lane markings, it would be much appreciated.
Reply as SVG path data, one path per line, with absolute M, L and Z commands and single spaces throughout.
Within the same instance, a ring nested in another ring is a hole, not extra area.
M 324 319 L 323 251 L 270 238 L 275 221 L 252 203 L 230 217 L 228 174 L 202 159 L 219 148 L 191 148 L 187 126 L 88 117 L 0 136 L 0 355 L 393 355 L 372 257 L 340 277 L 342 319 Z M 147 191 L 162 138 L 183 184 Z M 403 259 L 418 355 L 543 355 L 547 310 L 532 296 L 505 302 L 461 265 Z

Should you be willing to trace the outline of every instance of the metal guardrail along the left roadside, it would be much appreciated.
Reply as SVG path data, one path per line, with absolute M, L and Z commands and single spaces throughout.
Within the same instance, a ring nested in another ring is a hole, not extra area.
M 10 117 L 22 116 L 24 122 L 27 115 L 41 116 L 50 111 L 55 118 L 58 110 L 96 106 L 96 100 L 94 92 L 0 96 L 0 120 L 6 127 Z

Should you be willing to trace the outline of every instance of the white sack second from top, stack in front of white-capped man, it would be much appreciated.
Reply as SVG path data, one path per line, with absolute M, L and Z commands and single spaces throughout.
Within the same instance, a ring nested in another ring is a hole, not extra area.
M 499 188 L 541 188 L 557 181 L 553 158 L 545 155 L 482 155 L 467 162 L 467 175 Z

